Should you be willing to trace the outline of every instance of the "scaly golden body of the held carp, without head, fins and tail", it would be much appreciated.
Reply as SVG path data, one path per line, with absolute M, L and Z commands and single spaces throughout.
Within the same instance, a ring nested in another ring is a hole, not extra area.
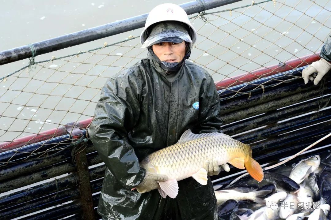
M 222 143 L 217 146 L 216 143 Z M 246 149 L 245 149 L 246 148 Z M 250 147 L 234 139 L 214 137 L 202 137 L 185 143 L 176 143 L 148 156 L 158 173 L 166 174 L 177 181 L 185 179 L 203 167 L 206 160 L 220 160 L 221 164 L 227 160 L 248 154 Z M 226 158 L 231 154 L 232 158 Z M 144 167 L 144 166 L 143 166 Z M 190 170 L 187 170 L 190 167 Z M 144 167 L 146 168 L 146 167 Z

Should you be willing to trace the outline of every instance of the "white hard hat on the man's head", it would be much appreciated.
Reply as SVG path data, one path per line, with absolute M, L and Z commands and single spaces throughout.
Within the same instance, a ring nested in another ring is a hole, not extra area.
M 140 43 L 142 45 L 146 41 L 148 28 L 151 25 L 161 21 L 179 21 L 187 24 L 190 28 L 190 36 L 192 39 L 192 44 L 194 44 L 194 42 L 196 41 L 197 31 L 192 26 L 184 9 L 182 9 L 180 6 L 176 4 L 166 3 L 156 6 L 149 13 L 145 23 L 145 28 L 140 35 Z

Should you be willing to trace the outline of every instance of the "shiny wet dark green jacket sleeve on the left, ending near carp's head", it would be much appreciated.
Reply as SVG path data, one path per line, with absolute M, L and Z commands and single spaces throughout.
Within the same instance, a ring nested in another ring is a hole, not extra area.
M 139 118 L 136 78 L 122 75 L 109 79 L 102 88 L 89 135 L 107 168 L 123 186 L 137 186 L 145 175 L 128 142 L 127 133 Z

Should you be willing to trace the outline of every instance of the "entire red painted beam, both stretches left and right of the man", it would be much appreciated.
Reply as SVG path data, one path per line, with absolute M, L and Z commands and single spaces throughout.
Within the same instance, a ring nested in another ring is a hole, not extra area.
M 320 59 L 319 53 L 303 56 L 297 59 L 289 60 L 284 64 L 276 64 L 269 67 L 263 67 L 254 70 L 249 73 L 244 73 L 235 77 L 223 79 L 215 83 L 217 90 L 221 90 L 227 87 L 236 86 L 241 83 L 251 82 L 260 77 L 267 77 L 277 73 L 286 72 L 295 68 L 306 66 L 316 60 Z M 77 122 L 77 127 L 85 129 L 92 121 L 92 118 Z M 58 137 L 67 134 L 65 126 L 60 126 L 59 128 L 54 128 L 39 134 L 32 134 L 26 137 L 21 137 L 10 142 L 5 142 L 0 144 L 0 152 L 2 150 L 12 150 L 28 144 L 38 143 L 40 141 L 45 141 L 47 139 Z

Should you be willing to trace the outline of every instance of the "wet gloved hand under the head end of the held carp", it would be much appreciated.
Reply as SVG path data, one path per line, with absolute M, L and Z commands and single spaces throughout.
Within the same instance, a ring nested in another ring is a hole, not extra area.
M 159 187 L 159 184 L 156 181 L 167 180 L 168 177 L 166 175 L 146 172 L 143 181 L 137 185 L 136 189 L 139 193 L 146 193 Z

